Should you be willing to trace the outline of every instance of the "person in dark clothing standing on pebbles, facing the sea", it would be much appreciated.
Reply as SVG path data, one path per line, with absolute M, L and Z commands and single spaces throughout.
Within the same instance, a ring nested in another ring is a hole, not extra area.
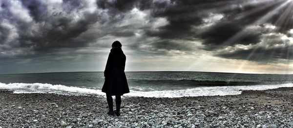
M 124 72 L 126 56 L 121 49 L 122 45 L 119 41 L 112 44 L 111 52 L 108 56 L 106 68 L 104 71 L 105 83 L 102 92 L 106 93 L 109 106 L 109 115 L 114 115 L 113 99 L 116 96 L 116 115 L 120 115 L 121 96 L 129 93 L 129 88 Z

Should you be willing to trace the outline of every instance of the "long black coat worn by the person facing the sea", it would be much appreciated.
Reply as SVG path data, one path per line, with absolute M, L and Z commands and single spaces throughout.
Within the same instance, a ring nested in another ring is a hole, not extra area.
M 121 48 L 112 48 L 104 71 L 105 82 L 102 92 L 110 96 L 129 93 L 124 72 L 126 56 Z

